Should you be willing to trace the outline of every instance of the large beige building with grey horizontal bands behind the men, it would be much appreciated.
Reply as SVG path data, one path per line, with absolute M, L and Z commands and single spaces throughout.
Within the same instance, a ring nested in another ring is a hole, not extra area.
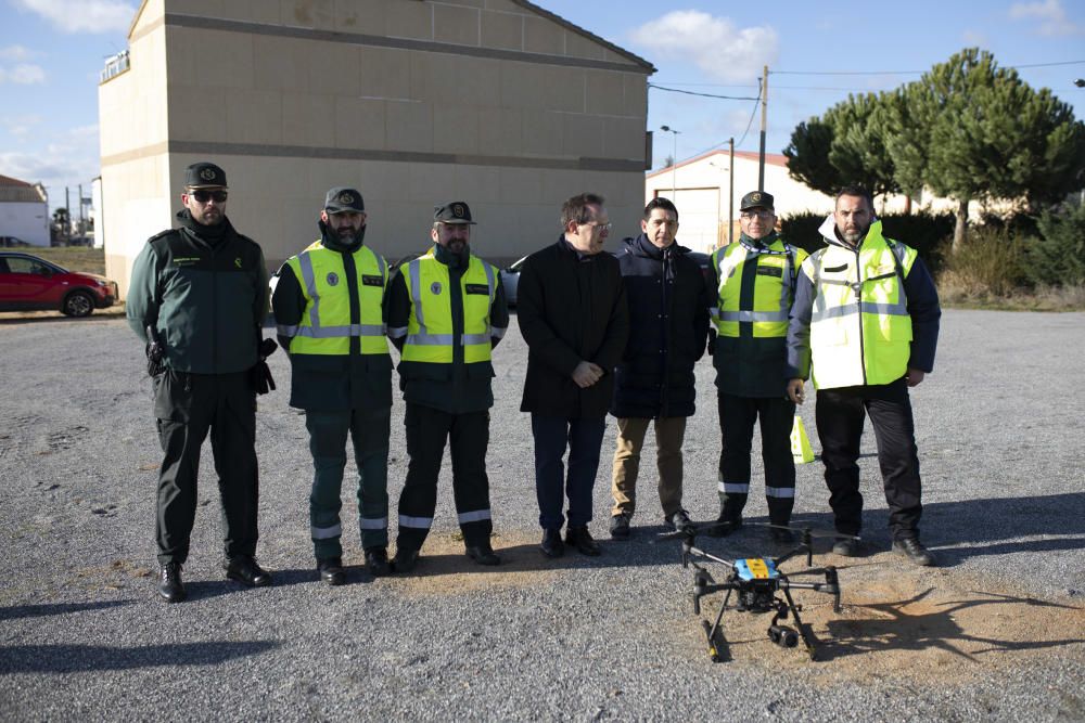
M 122 293 L 196 160 L 226 170 L 227 212 L 272 270 L 317 237 L 333 185 L 361 191 L 367 243 L 390 259 L 427 247 L 452 199 L 495 261 L 556 238 L 580 191 L 607 196 L 614 233 L 636 230 L 654 68 L 534 3 L 143 0 L 128 41 L 99 89 Z

